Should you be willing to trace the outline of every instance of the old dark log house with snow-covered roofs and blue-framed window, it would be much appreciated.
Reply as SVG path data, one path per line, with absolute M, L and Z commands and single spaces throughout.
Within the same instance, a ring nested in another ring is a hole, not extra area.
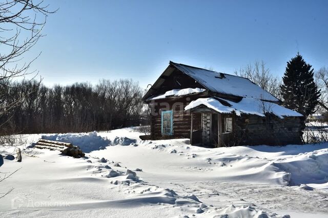
M 250 80 L 170 62 L 143 97 L 146 138 L 190 138 L 206 147 L 301 143 L 304 117 Z M 142 139 L 144 139 L 142 137 Z

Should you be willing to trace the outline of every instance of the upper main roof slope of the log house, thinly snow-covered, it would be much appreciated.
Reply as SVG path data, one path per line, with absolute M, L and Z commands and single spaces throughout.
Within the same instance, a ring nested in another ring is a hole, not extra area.
M 278 102 L 268 91 L 265 91 L 249 79 L 238 77 L 220 72 L 202 69 L 198 67 L 188 66 L 170 62 L 183 73 L 189 75 L 198 83 L 209 89 L 210 91 L 241 96 L 245 98 L 255 98 L 267 101 Z

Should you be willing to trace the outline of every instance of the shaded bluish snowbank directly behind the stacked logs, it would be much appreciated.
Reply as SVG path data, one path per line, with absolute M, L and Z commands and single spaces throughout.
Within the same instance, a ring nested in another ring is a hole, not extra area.
M 74 146 L 80 147 L 83 152 L 90 153 L 92 151 L 101 150 L 106 146 L 111 145 L 111 140 L 107 137 L 103 138 L 97 134 L 96 131 L 89 134 L 54 134 L 54 135 L 43 135 L 42 139 L 69 142 L 74 144 Z M 103 148 L 102 148 L 103 147 Z

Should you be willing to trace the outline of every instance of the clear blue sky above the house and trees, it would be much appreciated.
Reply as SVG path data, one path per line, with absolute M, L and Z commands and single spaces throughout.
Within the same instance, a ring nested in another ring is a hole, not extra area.
M 263 60 L 282 76 L 297 51 L 328 66 L 328 1 L 63 1 L 27 58 L 46 85 L 155 82 L 172 60 L 233 74 Z M 29 57 L 30 56 L 30 57 Z

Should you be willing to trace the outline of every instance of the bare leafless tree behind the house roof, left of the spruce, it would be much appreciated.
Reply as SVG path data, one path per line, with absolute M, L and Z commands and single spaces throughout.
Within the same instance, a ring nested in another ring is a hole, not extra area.
M 270 69 L 265 65 L 264 61 L 255 61 L 254 64 L 248 64 L 236 70 L 235 75 L 251 80 L 262 89 L 273 94 L 277 99 L 281 99 L 281 80 L 271 74 Z

